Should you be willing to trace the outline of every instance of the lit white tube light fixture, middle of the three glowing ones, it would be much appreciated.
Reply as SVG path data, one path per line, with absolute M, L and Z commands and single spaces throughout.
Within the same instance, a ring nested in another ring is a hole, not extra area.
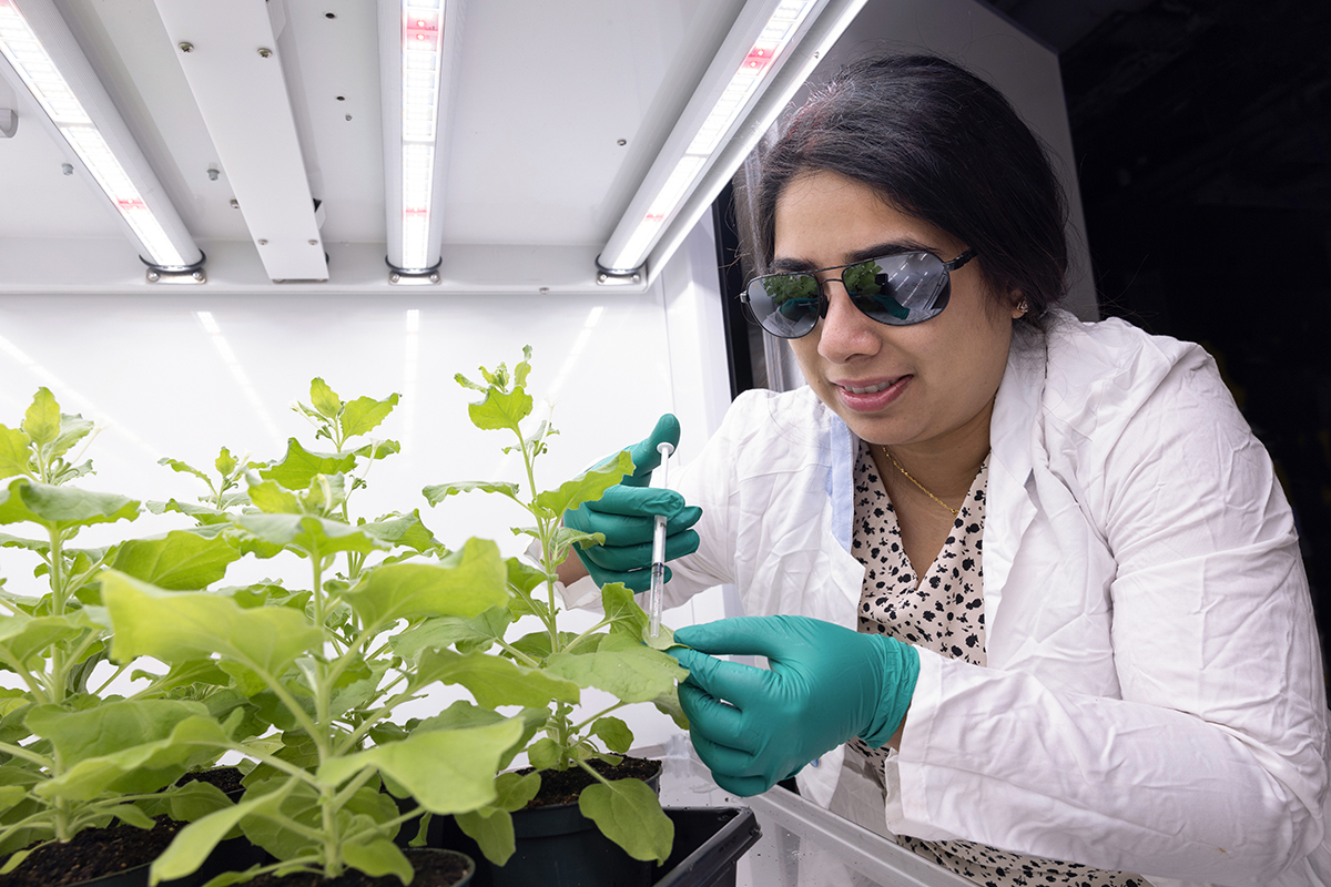
M 379 0 L 389 282 L 438 283 L 462 0 Z

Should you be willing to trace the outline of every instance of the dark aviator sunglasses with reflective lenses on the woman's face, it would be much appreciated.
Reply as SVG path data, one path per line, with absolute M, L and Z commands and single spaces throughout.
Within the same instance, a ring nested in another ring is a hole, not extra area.
M 772 335 L 799 339 L 828 313 L 828 299 L 816 275 L 840 269 L 837 277 L 855 307 L 878 323 L 910 326 L 942 314 L 952 295 L 952 271 L 973 258 L 974 250 L 950 262 L 916 250 L 813 271 L 767 274 L 755 278 L 740 301 L 749 317 Z

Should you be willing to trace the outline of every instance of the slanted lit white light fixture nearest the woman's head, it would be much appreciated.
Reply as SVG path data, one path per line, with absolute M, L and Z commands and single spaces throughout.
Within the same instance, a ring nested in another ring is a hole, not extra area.
M 749 0 L 596 259 L 650 282 L 868 0 Z

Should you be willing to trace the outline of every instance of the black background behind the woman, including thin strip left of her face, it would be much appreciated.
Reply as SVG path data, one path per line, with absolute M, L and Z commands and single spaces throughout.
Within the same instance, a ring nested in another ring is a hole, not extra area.
M 1101 317 L 1215 356 L 1294 505 L 1331 662 L 1331 0 L 986 1 L 1059 55 Z M 728 302 L 739 392 L 764 368 Z

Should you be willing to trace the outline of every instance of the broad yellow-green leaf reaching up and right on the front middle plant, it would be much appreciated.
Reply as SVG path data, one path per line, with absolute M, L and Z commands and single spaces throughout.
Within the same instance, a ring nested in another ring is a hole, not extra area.
M 389 564 L 345 593 L 366 626 L 383 626 L 414 616 L 479 616 L 508 600 L 507 573 L 499 548 L 467 540 L 434 564 Z

